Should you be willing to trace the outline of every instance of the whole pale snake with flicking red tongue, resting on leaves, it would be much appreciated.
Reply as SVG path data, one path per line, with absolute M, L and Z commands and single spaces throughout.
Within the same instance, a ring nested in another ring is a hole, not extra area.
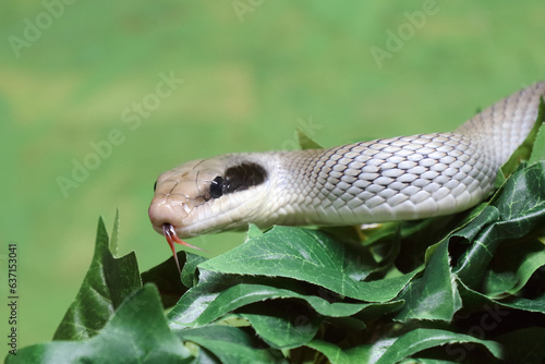
M 173 242 L 195 247 L 181 238 L 250 223 L 356 226 L 460 213 L 492 193 L 544 95 L 545 82 L 533 84 L 453 132 L 189 161 L 159 175 L 149 219 L 174 252 Z

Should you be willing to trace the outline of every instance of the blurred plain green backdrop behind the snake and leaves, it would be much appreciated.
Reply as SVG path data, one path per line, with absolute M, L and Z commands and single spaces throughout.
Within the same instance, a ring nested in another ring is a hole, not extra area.
M 449 131 L 545 78 L 543 1 L 0 7 L 0 284 L 7 301 L 16 243 L 20 348 L 51 339 L 100 215 L 111 227 L 120 210 L 119 253 L 136 251 L 142 270 L 170 256 L 147 218 L 160 172 L 293 148 L 298 126 L 326 146 Z M 87 172 L 74 172 L 78 163 Z M 243 236 L 190 242 L 218 254 Z

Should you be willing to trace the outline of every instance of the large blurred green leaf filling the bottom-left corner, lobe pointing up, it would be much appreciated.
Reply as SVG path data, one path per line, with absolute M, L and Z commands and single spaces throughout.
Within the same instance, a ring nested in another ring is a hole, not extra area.
M 165 320 L 157 289 L 134 292 L 111 320 L 86 341 L 53 341 L 10 355 L 15 363 L 191 363 L 192 357 Z

